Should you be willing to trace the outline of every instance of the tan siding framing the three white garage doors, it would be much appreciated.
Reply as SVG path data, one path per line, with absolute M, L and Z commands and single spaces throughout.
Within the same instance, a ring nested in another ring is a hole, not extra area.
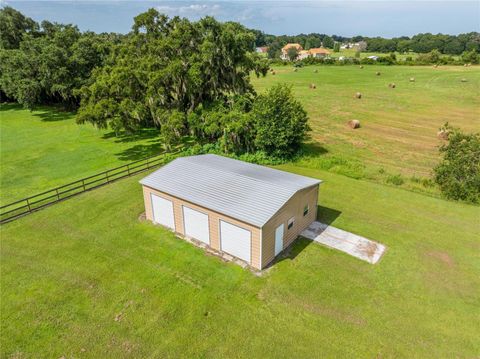
M 145 201 L 145 213 L 148 220 L 153 220 L 152 215 L 152 203 L 151 203 L 151 194 L 163 197 L 173 202 L 173 212 L 175 216 L 175 228 L 176 232 L 181 235 L 185 235 L 184 226 L 183 226 L 183 212 L 182 206 L 185 205 L 192 209 L 196 209 L 201 212 L 208 213 L 208 226 L 210 234 L 210 247 L 216 250 L 220 250 L 220 220 L 229 222 L 241 228 L 247 229 L 252 233 L 252 243 L 251 243 L 251 263 L 250 265 L 254 268 L 261 269 L 260 264 L 260 228 L 254 227 L 248 223 L 241 222 L 231 217 L 227 217 L 223 214 L 212 211 L 208 208 L 197 206 L 193 203 L 184 201 L 180 198 L 170 196 L 166 193 L 157 191 L 153 188 L 143 186 L 143 198 Z

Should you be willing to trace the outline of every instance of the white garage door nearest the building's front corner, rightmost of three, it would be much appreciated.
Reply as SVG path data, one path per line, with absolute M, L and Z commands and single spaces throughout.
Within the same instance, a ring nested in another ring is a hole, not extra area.
M 233 224 L 220 221 L 220 248 L 250 263 L 252 233 Z

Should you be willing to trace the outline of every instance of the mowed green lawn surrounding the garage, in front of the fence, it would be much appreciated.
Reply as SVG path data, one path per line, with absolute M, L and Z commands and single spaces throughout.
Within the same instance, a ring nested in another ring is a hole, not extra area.
M 380 263 L 300 240 L 256 277 L 140 222 L 137 176 L 0 228 L 1 357 L 480 354 L 479 207 L 282 168 L 323 179 L 321 219 Z

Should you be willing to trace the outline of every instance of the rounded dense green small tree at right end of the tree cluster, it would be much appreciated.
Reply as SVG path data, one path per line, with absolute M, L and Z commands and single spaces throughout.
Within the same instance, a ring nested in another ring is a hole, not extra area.
M 307 113 L 286 84 L 273 86 L 257 97 L 253 119 L 256 149 L 276 157 L 294 154 L 309 130 Z

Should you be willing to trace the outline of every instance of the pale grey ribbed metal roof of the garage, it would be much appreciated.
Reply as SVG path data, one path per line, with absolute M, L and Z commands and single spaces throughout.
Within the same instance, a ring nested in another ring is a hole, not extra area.
M 208 154 L 177 158 L 140 183 L 262 227 L 297 191 L 321 181 Z

